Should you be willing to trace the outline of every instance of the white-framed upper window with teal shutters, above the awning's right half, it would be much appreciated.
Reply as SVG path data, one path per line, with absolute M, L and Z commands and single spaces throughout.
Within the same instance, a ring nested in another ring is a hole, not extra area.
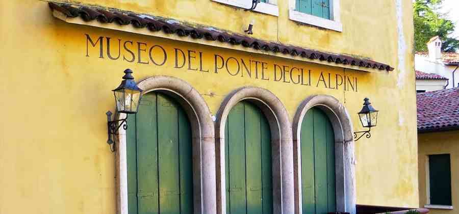
M 289 17 L 320 28 L 343 31 L 340 0 L 290 0 Z

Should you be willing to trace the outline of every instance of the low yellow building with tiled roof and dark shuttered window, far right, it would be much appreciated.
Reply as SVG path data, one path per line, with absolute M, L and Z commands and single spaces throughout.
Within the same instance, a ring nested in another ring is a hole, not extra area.
M 417 94 L 419 203 L 429 213 L 457 213 L 459 88 Z

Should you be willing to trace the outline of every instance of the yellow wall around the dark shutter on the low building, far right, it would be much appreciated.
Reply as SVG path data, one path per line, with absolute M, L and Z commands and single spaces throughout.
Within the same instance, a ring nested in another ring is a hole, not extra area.
M 430 154 L 450 154 L 451 158 L 451 199 L 452 210 L 431 209 L 429 213 L 457 213 L 459 206 L 459 131 L 421 133 L 418 136 L 419 155 L 419 206 L 427 204 L 426 197 L 426 159 Z

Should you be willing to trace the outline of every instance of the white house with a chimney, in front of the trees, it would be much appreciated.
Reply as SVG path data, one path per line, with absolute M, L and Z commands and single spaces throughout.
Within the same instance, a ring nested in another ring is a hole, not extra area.
M 427 42 L 428 52 L 415 53 L 415 69 L 424 73 L 438 74 L 447 78 L 445 88 L 455 88 L 459 84 L 459 53 L 442 52 L 442 40 L 436 36 Z M 424 90 L 424 81 L 416 81 L 416 90 Z M 418 85 L 419 84 L 419 85 Z M 429 85 L 431 83 L 428 83 Z M 429 87 L 430 88 L 430 87 Z M 428 89 L 426 91 L 429 91 Z

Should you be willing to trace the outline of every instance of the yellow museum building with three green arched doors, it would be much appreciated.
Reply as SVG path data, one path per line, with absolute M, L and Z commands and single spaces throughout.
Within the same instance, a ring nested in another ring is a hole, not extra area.
M 0 213 L 416 208 L 412 2 L 252 2 L 2 1 Z

